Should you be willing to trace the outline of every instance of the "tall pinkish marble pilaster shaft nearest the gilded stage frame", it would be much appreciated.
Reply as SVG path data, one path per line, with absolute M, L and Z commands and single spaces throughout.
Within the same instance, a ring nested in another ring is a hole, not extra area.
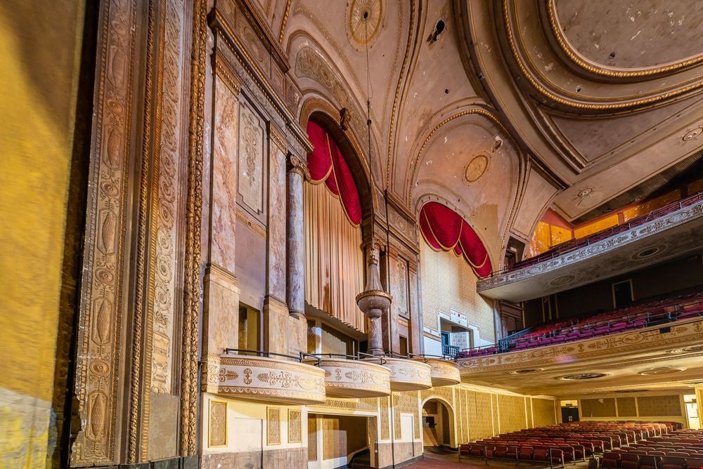
M 235 272 L 238 181 L 238 97 L 215 77 L 212 148 L 212 263 Z M 206 139 L 207 140 L 207 139 Z

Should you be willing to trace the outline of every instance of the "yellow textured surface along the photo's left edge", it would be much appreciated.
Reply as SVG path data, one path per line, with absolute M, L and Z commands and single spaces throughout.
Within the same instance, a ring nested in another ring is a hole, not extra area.
M 84 1 L 0 2 L 0 461 L 44 467 Z

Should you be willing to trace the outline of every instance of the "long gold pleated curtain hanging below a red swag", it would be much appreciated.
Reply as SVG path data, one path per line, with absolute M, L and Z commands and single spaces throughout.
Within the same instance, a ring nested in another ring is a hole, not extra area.
M 366 331 L 356 295 L 363 291 L 361 227 L 323 184 L 304 184 L 305 301 Z

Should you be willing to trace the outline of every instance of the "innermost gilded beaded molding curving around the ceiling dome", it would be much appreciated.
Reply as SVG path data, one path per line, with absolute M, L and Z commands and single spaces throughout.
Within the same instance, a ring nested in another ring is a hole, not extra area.
M 613 70 L 606 67 L 597 67 L 592 63 L 586 62 L 579 57 L 579 54 L 574 52 L 574 48 L 569 45 L 568 39 L 565 37 L 562 29 L 559 27 L 559 19 L 557 18 L 557 11 L 554 0 L 547 0 L 546 4 L 547 16 L 549 18 L 549 25 L 552 29 L 552 34 L 559 44 L 562 51 L 567 55 L 567 57 L 572 60 L 576 65 L 583 68 L 588 72 L 593 74 L 601 75 L 602 77 L 611 78 L 635 78 L 635 77 L 651 77 L 652 75 L 666 74 L 669 72 L 675 72 L 676 70 L 681 70 L 686 67 L 691 67 L 692 65 L 698 65 L 703 62 L 703 55 L 699 55 L 695 58 L 690 58 L 688 60 L 682 60 L 681 62 L 672 63 L 670 65 L 664 65 L 663 67 L 652 67 L 646 70 Z

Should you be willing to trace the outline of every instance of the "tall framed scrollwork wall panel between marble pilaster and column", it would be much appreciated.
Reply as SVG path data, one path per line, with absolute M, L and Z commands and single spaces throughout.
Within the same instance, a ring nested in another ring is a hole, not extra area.
M 241 201 L 254 214 L 264 213 L 264 121 L 245 101 L 239 107 L 239 178 Z

